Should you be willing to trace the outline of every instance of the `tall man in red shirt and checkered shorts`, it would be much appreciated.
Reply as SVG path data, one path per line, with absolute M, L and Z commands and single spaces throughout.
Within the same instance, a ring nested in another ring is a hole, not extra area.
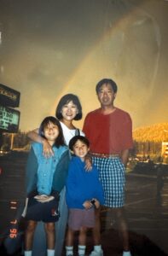
M 125 166 L 129 149 L 133 146 L 132 122 L 129 113 L 113 105 L 117 84 L 112 79 L 102 79 L 96 84 L 96 94 L 101 103 L 87 114 L 84 133 L 90 141 L 90 154 L 99 170 L 105 194 L 105 207 L 113 208 L 123 239 L 123 256 L 130 256 L 129 236 L 125 219 Z M 90 256 L 103 256 L 100 235 L 100 211 L 96 211 L 94 251 Z

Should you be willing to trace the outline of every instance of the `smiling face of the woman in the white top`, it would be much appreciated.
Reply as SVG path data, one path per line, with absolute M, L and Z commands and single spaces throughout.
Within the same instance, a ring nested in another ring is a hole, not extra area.
M 67 121 L 72 121 L 76 117 L 78 113 L 77 105 L 75 105 L 72 101 L 63 105 L 61 109 L 62 118 Z

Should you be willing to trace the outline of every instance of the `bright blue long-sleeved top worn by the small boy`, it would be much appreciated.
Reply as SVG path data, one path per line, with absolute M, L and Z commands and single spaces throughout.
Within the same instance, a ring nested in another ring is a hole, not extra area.
M 67 207 L 84 209 L 84 201 L 96 198 L 101 205 L 104 203 L 103 189 L 96 166 L 87 172 L 85 162 L 73 156 L 69 163 L 67 175 Z

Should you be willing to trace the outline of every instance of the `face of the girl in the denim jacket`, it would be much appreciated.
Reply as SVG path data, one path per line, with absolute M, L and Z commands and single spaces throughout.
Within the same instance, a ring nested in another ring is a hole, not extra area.
M 59 135 L 58 126 L 49 122 L 49 124 L 47 126 L 45 126 L 44 129 L 43 129 L 43 135 L 44 135 L 44 137 L 46 137 L 46 139 L 49 142 L 55 143 L 55 139 Z

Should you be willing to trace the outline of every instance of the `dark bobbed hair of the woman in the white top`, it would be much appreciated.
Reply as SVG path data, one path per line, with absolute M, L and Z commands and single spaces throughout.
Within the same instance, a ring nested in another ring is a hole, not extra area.
M 66 94 L 65 96 L 62 96 L 60 102 L 58 102 L 58 105 L 55 111 L 55 116 L 57 117 L 57 119 L 59 120 L 62 119 L 61 109 L 64 105 L 68 104 L 69 102 L 73 102 L 73 104 L 75 104 L 78 108 L 78 113 L 75 116 L 74 120 L 82 119 L 82 106 L 79 102 L 78 96 L 71 93 Z

